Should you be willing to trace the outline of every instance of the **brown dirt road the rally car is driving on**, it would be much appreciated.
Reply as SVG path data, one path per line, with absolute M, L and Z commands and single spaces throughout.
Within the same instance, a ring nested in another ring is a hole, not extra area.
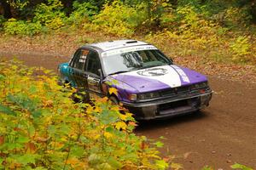
M 12 54 L 0 54 L 0 56 Z M 18 54 L 29 66 L 56 70 L 68 57 Z M 24 57 L 26 56 L 26 57 Z M 165 121 L 140 122 L 136 133 L 149 139 L 164 136 L 163 155 L 173 155 L 184 169 L 205 165 L 230 169 L 235 162 L 256 169 L 256 85 L 209 77 L 215 91 L 210 106 L 200 113 Z

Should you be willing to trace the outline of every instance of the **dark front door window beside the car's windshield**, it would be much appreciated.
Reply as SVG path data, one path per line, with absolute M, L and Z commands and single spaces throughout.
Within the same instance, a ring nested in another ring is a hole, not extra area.
M 85 71 L 100 76 L 99 69 L 102 69 L 99 55 L 95 51 L 90 51 L 90 53 L 87 55 Z

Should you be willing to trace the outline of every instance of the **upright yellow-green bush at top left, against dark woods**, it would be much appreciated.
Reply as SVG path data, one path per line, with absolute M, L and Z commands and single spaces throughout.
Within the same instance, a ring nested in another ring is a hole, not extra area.
M 35 9 L 33 22 L 38 22 L 49 29 L 59 29 L 64 26 L 63 20 L 66 14 L 61 11 L 63 5 L 59 0 L 48 0 L 48 3 L 41 3 Z

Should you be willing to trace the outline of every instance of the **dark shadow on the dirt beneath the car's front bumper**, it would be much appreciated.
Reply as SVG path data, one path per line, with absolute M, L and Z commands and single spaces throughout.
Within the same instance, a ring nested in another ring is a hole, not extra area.
M 207 111 L 195 111 L 189 114 L 181 116 L 172 116 L 170 118 L 162 120 L 148 120 L 148 121 L 137 121 L 138 126 L 135 129 L 136 133 L 148 131 L 150 129 L 157 129 L 163 127 L 177 126 L 177 124 L 196 122 L 201 119 L 206 119 L 209 116 Z

